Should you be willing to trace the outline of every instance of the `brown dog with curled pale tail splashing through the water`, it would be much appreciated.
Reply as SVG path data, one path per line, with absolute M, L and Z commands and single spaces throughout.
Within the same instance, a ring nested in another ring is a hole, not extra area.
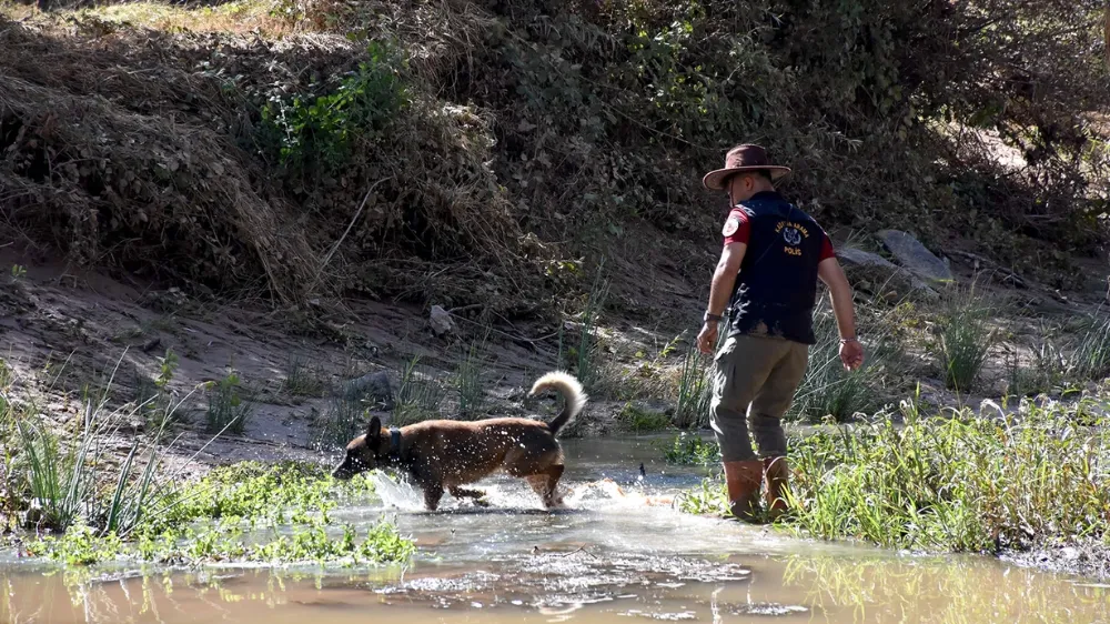
M 563 449 L 555 435 L 578 415 L 587 396 L 578 380 L 564 372 L 539 378 L 528 395 L 548 389 L 563 395 L 564 405 L 547 423 L 518 417 L 440 420 L 386 432 L 374 416 L 366 433 L 347 444 L 343 463 L 332 471 L 332 476 L 346 480 L 377 467 L 397 469 L 408 473 L 424 491 L 424 506 L 435 510 L 444 489 L 456 499 L 481 499 L 484 492 L 462 486 L 502 469 L 524 477 L 545 507 L 557 506 L 563 502 L 555 492 L 563 476 Z

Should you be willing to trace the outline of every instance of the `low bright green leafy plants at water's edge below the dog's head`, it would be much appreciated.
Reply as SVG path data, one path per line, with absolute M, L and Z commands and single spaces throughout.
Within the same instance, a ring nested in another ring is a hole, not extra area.
M 168 492 L 133 539 L 78 523 L 29 546 L 32 554 L 70 565 L 134 558 L 154 563 L 327 563 L 361 565 L 407 561 L 415 546 L 383 521 L 362 539 L 351 524 L 333 525 L 329 512 L 345 496 L 372 487 L 336 482 L 315 464 L 242 462 Z

